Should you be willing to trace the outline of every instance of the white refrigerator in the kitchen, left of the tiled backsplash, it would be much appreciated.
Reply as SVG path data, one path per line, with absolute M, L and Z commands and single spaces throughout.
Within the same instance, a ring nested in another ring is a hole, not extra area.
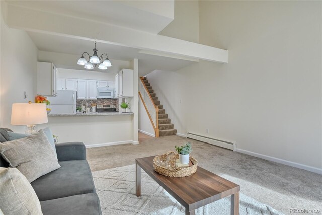
M 57 96 L 49 97 L 51 114 L 76 113 L 76 91 L 58 90 Z

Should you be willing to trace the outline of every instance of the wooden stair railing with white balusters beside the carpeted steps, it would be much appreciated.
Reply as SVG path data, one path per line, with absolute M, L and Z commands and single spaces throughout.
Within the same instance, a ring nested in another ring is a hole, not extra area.
M 155 131 L 155 137 L 159 137 L 159 108 L 154 104 L 153 99 L 150 95 L 149 90 L 146 88 L 144 83 L 144 78 L 140 77 L 139 82 L 139 96 L 142 100 L 142 103 L 145 107 L 145 110 L 147 112 L 147 115 L 150 118 L 150 121 L 152 123 L 153 129 Z

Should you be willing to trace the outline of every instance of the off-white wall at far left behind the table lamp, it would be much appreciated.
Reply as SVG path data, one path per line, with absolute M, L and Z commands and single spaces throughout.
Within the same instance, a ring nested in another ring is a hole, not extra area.
M 5 5 L 2 3 L 1 7 Z M 14 102 L 34 100 L 38 50 L 25 31 L 8 28 L 3 15 L 2 13 L 0 16 L 0 125 L 24 132 L 27 130 L 26 126 L 10 125 L 11 106 Z M 27 99 L 24 99 L 24 91 L 28 94 Z

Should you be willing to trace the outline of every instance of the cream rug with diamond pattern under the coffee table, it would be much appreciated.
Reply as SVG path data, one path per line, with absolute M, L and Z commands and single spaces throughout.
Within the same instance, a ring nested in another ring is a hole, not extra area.
M 166 190 L 141 170 L 141 196 L 135 196 L 135 165 L 93 172 L 103 214 L 185 214 Z M 283 214 L 240 193 L 240 214 Z M 196 214 L 230 214 L 230 197 L 197 209 Z

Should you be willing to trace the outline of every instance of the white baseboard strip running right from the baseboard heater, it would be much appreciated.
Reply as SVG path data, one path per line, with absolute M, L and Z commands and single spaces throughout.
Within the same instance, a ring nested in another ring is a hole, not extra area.
M 242 149 L 238 149 L 238 148 L 236 149 L 236 152 L 240 152 L 240 153 L 243 153 L 243 154 L 251 155 L 251 156 L 254 156 L 254 157 L 257 157 L 257 158 L 262 158 L 262 159 L 265 159 L 265 160 L 268 160 L 268 161 L 273 161 L 273 162 L 280 163 L 280 164 L 285 164 L 285 165 L 288 165 L 288 166 L 291 166 L 291 167 L 296 167 L 296 168 L 307 170 L 307 171 L 310 171 L 310 172 L 322 174 L 322 169 L 307 166 L 305 164 L 299 164 L 299 163 L 295 163 L 295 162 L 292 162 L 292 161 L 287 161 L 287 160 L 284 160 L 284 159 L 275 158 L 275 157 L 272 157 L 272 156 L 263 155 L 263 154 L 259 154 L 259 153 L 256 153 L 256 152 L 251 152 L 251 151 L 242 150 Z

